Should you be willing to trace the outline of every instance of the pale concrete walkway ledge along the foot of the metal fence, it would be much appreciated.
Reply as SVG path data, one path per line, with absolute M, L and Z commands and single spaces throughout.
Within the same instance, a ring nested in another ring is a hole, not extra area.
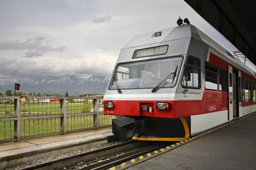
M 110 127 L 0 144 L 0 169 L 20 165 L 22 162 L 44 158 L 60 152 L 71 152 L 105 144 L 112 135 L 112 128 Z M 94 140 L 98 141 L 92 143 Z

